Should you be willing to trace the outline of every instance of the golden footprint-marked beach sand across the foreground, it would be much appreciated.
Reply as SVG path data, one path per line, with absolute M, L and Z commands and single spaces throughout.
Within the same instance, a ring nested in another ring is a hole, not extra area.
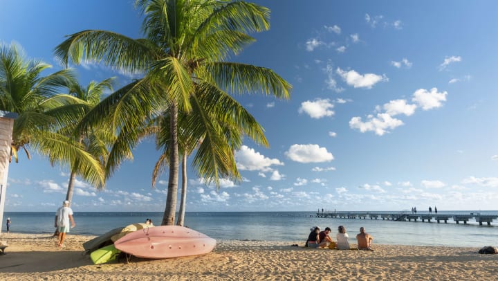
M 208 255 L 92 264 L 71 235 L 2 233 L 3 280 L 498 280 L 498 255 L 476 248 L 374 245 L 375 251 L 304 248 L 302 241 L 218 241 Z M 299 246 L 291 246 L 299 244 Z M 353 245 L 352 245 L 353 246 Z M 356 246 L 356 245 L 354 245 Z

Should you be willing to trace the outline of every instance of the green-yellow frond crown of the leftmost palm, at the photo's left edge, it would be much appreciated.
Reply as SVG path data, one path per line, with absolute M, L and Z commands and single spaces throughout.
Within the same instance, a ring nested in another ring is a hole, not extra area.
M 104 182 L 104 172 L 88 152 L 57 130 L 67 123 L 50 110 L 67 105 L 70 99 L 56 98 L 75 81 L 73 71 L 64 69 L 42 76 L 51 66 L 37 60 L 26 61 L 14 44 L 0 44 L 0 110 L 19 114 L 14 122 L 11 160 L 24 149 L 28 159 L 32 147 L 48 156 L 52 163 L 80 162 L 85 179 L 95 185 Z

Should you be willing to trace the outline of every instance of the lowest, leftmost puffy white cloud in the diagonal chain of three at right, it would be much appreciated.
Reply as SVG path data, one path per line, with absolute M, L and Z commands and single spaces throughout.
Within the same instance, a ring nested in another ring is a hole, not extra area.
M 362 121 L 361 117 L 353 117 L 349 120 L 351 129 L 359 129 L 360 132 L 375 132 L 376 135 L 382 136 L 389 132 L 388 129 L 395 129 L 403 125 L 403 121 L 392 118 L 389 114 L 377 114 L 377 117 L 367 116 L 366 122 Z

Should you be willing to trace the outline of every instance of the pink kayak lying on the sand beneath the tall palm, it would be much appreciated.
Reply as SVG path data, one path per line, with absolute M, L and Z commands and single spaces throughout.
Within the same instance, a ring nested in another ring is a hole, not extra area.
M 165 259 L 210 253 L 216 240 L 183 226 L 154 226 L 121 237 L 114 246 L 136 257 Z

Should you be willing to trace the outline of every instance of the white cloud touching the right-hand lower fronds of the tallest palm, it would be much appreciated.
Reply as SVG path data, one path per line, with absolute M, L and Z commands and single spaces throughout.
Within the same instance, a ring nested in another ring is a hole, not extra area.
M 284 165 L 277 158 L 268 158 L 255 152 L 255 149 L 242 145 L 241 149 L 235 152 L 235 160 L 239 170 L 269 172 L 272 170 L 271 165 Z

